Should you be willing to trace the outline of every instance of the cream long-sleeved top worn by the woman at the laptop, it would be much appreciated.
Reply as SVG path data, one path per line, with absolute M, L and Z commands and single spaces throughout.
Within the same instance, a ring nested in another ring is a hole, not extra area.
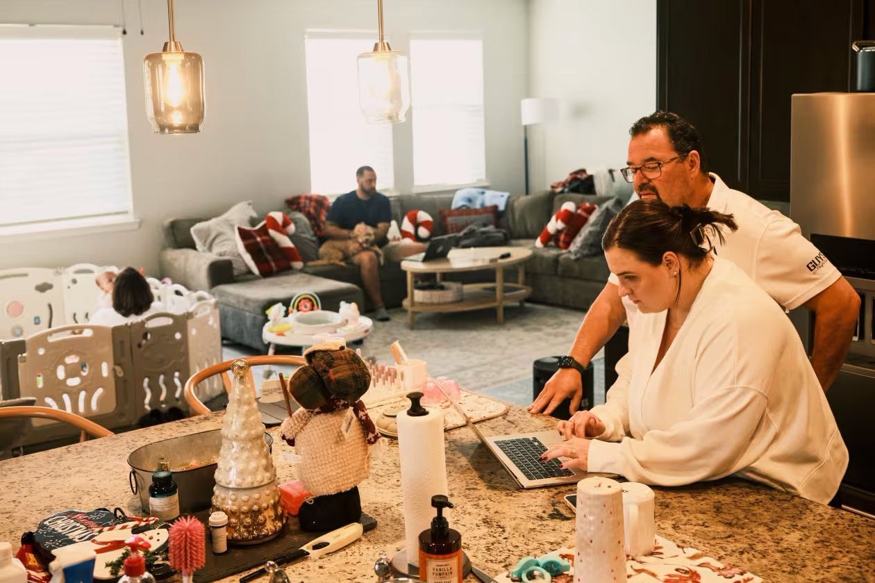
M 629 353 L 589 449 L 591 472 L 680 486 L 728 474 L 827 503 L 848 465 L 820 383 L 787 315 L 717 257 L 654 369 L 667 313 L 635 313 Z

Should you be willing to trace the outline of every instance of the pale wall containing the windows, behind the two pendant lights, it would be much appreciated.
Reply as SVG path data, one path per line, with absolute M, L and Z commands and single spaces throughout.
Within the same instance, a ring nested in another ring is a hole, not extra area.
M 179 0 L 177 39 L 205 62 L 207 117 L 198 135 L 151 133 L 142 62 L 167 39 L 166 3 L 125 0 L 124 37 L 130 163 L 136 230 L 0 240 L 0 269 L 91 262 L 158 272 L 165 219 L 220 214 L 239 200 L 264 213 L 310 190 L 304 74 L 306 29 L 376 29 L 374 0 Z M 406 48 L 409 32 L 479 32 L 484 40 L 486 172 L 493 187 L 522 184 L 519 102 L 528 89 L 526 0 L 387 0 L 387 34 Z M 117 24 L 119 0 L 2 0 L 0 23 Z M 451 63 L 447 66 L 451 67 Z M 356 91 L 350 87 L 350 91 Z M 396 130 L 398 182 L 412 174 L 409 130 Z M 338 139 L 343 139 L 338 136 Z M 350 169 L 350 188 L 354 169 Z

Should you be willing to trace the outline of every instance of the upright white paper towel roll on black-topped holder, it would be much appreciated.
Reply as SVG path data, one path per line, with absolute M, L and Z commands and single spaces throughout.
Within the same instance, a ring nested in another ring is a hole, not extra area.
M 419 566 L 419 533 L 431 525 L 436 510 L 431 496 L 449 495 L 446 487 L 444 412 L 427 409 L 427 415 L 398 413 L 398 450 L 401 457 L 401 492 L 407 560 Z

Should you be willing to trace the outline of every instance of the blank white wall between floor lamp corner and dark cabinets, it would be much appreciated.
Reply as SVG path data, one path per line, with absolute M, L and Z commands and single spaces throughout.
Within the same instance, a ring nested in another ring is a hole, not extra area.
M 533 191 L 625 165 L 629 126 L 656 106 L 655 0 L 530 0 L 529 95 L 560 103 L 529 129 Z

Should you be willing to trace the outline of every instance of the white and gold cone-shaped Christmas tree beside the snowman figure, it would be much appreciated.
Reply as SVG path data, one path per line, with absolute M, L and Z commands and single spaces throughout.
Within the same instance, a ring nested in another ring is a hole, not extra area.
M 228 540 L 255 544 L 283 530 L 285 513 L 248 372 L 245 361 L 231 365 L 231 394 L 221 426 L 213 510 L 228 515 Z

